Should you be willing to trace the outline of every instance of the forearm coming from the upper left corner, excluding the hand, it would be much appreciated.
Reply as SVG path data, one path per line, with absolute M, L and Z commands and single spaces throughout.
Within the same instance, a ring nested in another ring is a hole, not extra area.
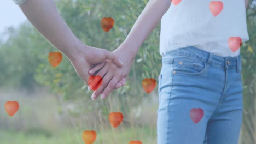
M 75 58 L 82 43 L 59 15 L 53 0 L 27 0 L 20 8 L 51 44 L 65 53 L 69 59 Z

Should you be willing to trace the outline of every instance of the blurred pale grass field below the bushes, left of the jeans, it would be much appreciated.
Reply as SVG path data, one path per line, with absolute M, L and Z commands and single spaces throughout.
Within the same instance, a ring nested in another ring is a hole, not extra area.
M 20 103 L 20 109 L 13 117 L 4 110 L 7 100 Z M 83 144 L 83 131 L 94 128 L 98 129 L 95 130 L 97 138 L 94 144 L 127 144 L 131 140 L 156 143 L 157 103 L 143 104 L 138 124 L 129 127 L 122 123 L 117 128 L 109 127 L 108 122 L 88 125 L 94 122 L 83 119 L 70 124 L 67 117 L 57 113 L 56 99 L 45 89 L 32 94 L 0 89 L 0 105 L 0 144 Z M 124 121 L 130 122 L 131 119 L 126 117 Z

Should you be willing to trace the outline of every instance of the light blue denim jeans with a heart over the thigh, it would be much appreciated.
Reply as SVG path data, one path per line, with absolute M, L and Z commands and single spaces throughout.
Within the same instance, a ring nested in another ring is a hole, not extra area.
M 168 51 L 158 84 L 158 144 L 235 144 L 242 123 L 241 57 Z

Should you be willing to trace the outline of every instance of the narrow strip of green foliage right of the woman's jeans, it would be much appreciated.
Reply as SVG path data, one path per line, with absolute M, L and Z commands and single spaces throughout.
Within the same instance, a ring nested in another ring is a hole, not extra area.
M 252 3 L 252 1 L 250 1 Z M 254 1 L 255 2 L 255 1 Z M 256 4 L 256 3 L 255 3 Z M 247 10 L 247 28 L 250 40 L 243 44 L 243 125 L 240 143 L 255 143 L 256 115 L 256 5 Z

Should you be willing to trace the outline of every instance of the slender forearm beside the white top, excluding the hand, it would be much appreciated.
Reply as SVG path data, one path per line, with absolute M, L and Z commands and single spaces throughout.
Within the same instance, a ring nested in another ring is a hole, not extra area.
M 127 35 L 124 43 L 121 44 L 121 47 L 124 47 L 123 49 L 129 49 L 125 51 L 129 51 L 132 58 L 136 56 L 139 47 L 141 47 L 143 41 L 158 25 L 162 16 L 170 8 L 170 5 L 170 0 L 150 0 L 148 2 L 133 25 L 129 35 Z

